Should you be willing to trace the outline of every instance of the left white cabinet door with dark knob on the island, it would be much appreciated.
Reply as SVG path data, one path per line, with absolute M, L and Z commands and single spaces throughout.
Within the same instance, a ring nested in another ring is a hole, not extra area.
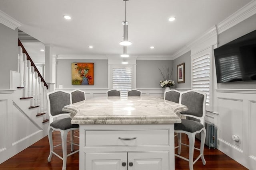
M 85 162 L 85 170 L 127 170 L 127 153 L 86 153 Z

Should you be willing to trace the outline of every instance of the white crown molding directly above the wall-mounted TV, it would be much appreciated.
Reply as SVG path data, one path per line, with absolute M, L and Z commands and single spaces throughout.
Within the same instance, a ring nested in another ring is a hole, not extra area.
M 218 33 L 222 33 L 227 29 L 233 27 L 234 25 L 246 20 L 247 18 L 256 14 L 256 0 L 252 0 L 239 10 L 237 10 L 234 14 L 226 18 L 217 24 Z

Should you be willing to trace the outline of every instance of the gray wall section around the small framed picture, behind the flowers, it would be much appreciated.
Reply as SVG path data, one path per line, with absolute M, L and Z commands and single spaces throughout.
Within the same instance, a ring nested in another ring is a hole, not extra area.
M 191 60 L 190 60 L 191 51 L 188 51 L 184 55 L 181 55 L 173 61 L 173 73 L 174 73 L 174 88 L 191 88 Z M 185 82 L 177 83 L 178 74 L 177 74 L 177 65 L 185 63 Z

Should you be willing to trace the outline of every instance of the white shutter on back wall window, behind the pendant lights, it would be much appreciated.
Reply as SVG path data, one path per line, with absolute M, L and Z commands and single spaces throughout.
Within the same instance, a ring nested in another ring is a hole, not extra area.
M 127 96 L 132 90 L 132 68 L 113 68 L 112 88 L 121 91 L 121 97 Z

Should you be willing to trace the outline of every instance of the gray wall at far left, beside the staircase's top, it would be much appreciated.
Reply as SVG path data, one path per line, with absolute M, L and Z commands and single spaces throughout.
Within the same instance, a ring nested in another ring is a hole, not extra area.
M 18 29 L 0 23 L 0 89 L 10 89 L 10 70 L 18 71 Z

